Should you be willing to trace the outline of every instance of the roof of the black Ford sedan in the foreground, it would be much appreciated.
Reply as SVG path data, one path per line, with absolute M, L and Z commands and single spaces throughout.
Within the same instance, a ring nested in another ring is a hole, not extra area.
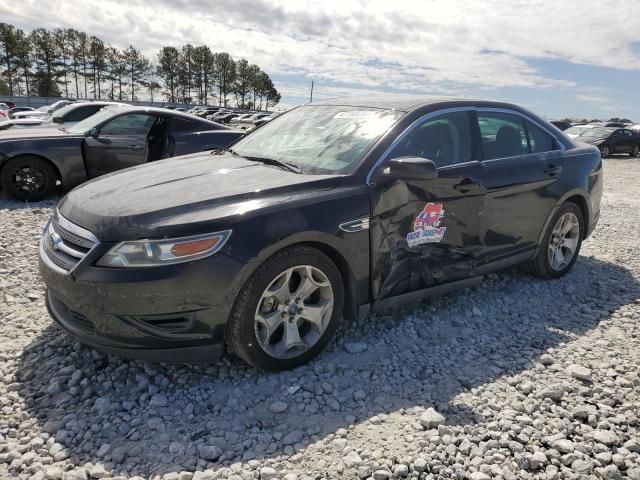
M 456 97 L 429 97 L 424 95 L 369 95 L 369 96 L 352 96 L 337 97 L 318 102 L 312 102 L 307 105 L 332 105 L 345 107 L 365 107 L 383 110 L 398 110 L 408 112 L 417 108 L 429 105 L 439 105 L 446 107 L 447 104 L 456 105 L 478 105 L 483 107 L 495 108 L 511 108 L 522 110 L 517 105 L 488 100 L 478 100 L 473 98 L 456 98 Z

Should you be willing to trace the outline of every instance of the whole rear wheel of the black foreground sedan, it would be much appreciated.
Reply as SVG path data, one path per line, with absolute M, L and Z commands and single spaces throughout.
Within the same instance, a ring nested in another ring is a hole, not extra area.
M 565 203 L 555 213 L 527 270 L 543 278 L 565 275 L 578 259 L 584 232 L 582 211 L 574 203 Z

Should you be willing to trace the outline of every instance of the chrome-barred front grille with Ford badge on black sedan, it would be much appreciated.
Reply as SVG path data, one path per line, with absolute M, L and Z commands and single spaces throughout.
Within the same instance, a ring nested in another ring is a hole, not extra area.
M 47 257 L 65 272 L 73 270 L 97 243 L 91 232 L 71 223 L 59 212 L 47 225 L 43 238 Z

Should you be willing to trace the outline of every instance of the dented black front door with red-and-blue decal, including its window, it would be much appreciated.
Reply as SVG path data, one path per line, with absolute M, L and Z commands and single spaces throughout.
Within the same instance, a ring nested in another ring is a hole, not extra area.
M 375 300 L 473 276 L 483 248 L 486 190 L 471 121 L 465 109 L 423 116 L 396 139 L 374 170 L 370 234 Z

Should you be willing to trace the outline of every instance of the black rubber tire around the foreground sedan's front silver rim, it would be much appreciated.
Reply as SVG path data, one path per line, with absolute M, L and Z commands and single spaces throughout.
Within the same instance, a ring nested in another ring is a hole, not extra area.
M 256 337 L 255 312 L 262 293 L 284 270 L 311 265 L 320 269 L 331 283 L 333 311 L 326 330 L 308 350 L 293 358 L 277 358 L 260 346 Z M 234 304 L 225 332 L 229 349 L 255 368 L 281 371 L 296 368 L 314 358 L 342 326 L 344 288 L 342 276 L 331 259 L 321 251 L 304 245 L 281 250 L 268 258 L 244 284 Z

